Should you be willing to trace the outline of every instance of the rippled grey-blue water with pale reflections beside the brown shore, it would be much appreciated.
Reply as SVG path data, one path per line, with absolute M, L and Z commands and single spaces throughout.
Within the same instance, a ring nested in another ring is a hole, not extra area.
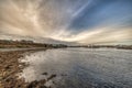
M 25 55 L 20 77 L 53 88 L 132 87 L 132 51 L 58 48 Z

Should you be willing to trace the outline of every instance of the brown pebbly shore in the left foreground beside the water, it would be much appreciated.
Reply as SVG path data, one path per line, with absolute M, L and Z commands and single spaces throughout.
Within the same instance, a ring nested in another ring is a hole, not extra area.
M 10 51 L 10 52 L 0 52 L 0 88 L 50 88 L 44 86 L 46 80 L 25 82 L 23 78 L 16 76 L 19 73 L 22 73 L 22 69 L 28 65 L 25 63 L 20 63 L 19 59 L 24 56 L 24 54 L 31 54 L 37 51 L 46 51 L 48 48 L 41 50 L 26 50 L 26 51 Z M 51 76 L 51 79 L 55 75 Z

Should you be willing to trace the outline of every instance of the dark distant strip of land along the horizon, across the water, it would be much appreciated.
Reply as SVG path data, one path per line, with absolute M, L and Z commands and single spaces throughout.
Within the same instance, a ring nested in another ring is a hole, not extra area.
M 34 43 L 33 41 L 11 41 L 0 40 L 0 48 L 62 48 L 62 47 L 86 47 L 86 48 L 119 48 L 119 50 L 132 50 L 132 45 L 65 45 L 65 44 L 47 44 L 47 43 Z

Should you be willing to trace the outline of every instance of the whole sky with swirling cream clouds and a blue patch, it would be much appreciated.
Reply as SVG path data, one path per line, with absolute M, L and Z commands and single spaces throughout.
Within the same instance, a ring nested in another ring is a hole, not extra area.
M 0 0 L 0 35 L 10 34 L 132 44 L 132 0 Z

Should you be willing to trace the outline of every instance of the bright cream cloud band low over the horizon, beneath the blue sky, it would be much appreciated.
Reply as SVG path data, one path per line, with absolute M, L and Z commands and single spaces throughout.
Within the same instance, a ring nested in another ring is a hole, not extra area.
M 118 44 L 121 42 L 132 43 L 131 35 L 132 35 L 131 28 L 127 29 L 127 28 L 100 26 L 98 29 L 92 29 L 90 31 L 82 31 L 78 34 L 68 33 L 67 36 L 62 35 L 53 36 L 53 38 L 67 42 L 77 42 L 81 44 L 107 44 L 107 43 Z

